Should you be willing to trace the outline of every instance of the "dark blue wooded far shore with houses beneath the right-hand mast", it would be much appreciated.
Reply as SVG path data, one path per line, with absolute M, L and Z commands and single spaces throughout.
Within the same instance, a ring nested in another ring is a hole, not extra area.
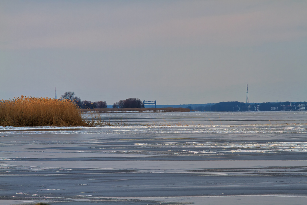
M 307 110 L 307 102 L 243 103 L 238 101 L 219 102 L 213 105 L 188 106 L 193 111 L 280 111 Z

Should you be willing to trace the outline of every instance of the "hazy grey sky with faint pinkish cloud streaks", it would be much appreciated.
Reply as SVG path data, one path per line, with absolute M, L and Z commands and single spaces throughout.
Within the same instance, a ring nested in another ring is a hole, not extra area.
M 307 1 L 0 1 L 0 99 L 307 101 Z

